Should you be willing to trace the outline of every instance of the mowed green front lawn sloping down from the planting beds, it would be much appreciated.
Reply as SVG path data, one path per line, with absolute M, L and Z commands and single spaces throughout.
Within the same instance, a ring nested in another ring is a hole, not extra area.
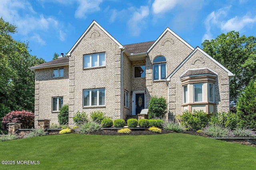
M 0 160 L 39 165 L 0 169 L 254 169 L 256 148 L 180 134 L 64 134 L 0 142 Z

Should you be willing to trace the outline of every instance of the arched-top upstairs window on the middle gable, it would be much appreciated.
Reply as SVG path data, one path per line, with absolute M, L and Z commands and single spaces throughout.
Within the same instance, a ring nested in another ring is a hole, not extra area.
M 166 59 L 158 56 L 153 60 L 153 80 L 164 80 L 166 78 Z

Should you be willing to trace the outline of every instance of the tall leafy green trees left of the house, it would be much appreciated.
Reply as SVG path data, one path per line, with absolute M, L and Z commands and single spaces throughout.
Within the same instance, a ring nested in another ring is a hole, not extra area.
M 32 56 L 28 43 L 12 39 L 16 27 L 0 18 L 0 117 L 9 111 L 34 112 L 34 72 L 43 59 Z

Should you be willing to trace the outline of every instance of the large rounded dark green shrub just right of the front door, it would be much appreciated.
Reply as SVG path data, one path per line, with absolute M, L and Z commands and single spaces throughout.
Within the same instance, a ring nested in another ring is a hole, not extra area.
M 154 118 L 165 118 L 167 103 L 165 98 L 163 97 L 156 97 L 153 96 L 150 99 L 149 106 L 148 106 L 148 118 L 154 119 Z

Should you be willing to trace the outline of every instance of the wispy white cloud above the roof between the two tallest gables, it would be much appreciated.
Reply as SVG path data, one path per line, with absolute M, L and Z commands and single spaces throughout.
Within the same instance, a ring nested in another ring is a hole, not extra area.
M 132 36 L 140 35 L 141 27 L 145 24 L 145 19 L 149 14 L 148 6 L 140 6 L 140 9 L 137 9 L 130 20 L 128 20 L 128 27 Z

